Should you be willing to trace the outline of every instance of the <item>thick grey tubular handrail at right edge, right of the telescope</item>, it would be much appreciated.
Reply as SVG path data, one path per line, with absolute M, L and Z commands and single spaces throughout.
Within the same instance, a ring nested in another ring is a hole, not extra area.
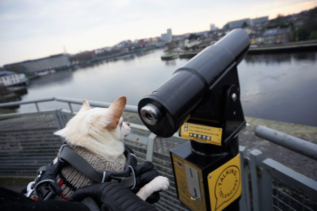
M 268 140 L 274 144 L 280 145 L 284 148 L 297 152 L 308 158 L 317 161 L 317 144 L 305 141 L 286 133 L 273 130 L 262 125 L 256 128 L 256 136 Z

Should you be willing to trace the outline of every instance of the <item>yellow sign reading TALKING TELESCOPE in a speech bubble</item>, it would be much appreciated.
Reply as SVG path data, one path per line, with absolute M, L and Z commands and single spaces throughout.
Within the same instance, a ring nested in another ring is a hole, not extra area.
M 240 154 L 208 174 L 211 211 L 221 211 L 241 195 Z

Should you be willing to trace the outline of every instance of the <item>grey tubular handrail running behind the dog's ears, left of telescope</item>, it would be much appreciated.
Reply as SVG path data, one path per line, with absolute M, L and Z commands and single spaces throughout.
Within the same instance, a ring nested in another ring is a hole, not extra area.
M 48 102 L 48 101 L 67 102 L 71 112 L 73 112 L 71 103 L 79 104 L 79 105 L 82 104 L 82 100 L 81 99 L 68 98 L 68 97 L 51 97 L 51 98 L 44 98 L 44 99 L 38 99 L 38 100 L 26 100 L 26 101 L 0 103 L 0 108 L 35 103 L 37 111 L 40 111 L 37 103 L 39 103 L 39 102 Z M 93 107 L 108 108 L 111 105 L 111 102 L 100 102 L 100 101 L 93 101 L 93 100 L 89 100 L 88 102 Z M 124 110 L 127 111 L 127 112 L 138 113 L 138 106 L 126 105 L 126 108 Z

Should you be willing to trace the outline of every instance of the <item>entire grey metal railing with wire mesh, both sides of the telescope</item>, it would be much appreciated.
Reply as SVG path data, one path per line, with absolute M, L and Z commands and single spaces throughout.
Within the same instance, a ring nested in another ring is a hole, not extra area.
M 52 100 L 68 103 L 70 111 L 51 109 L 0 115 L 0 177 L 34 179 L 37 169 L 50 163 L 63 143 L 61 138 L 52 133 L 65 127 L 74 116 L 71 104 L 82 104 L 82 101 L 55 97 L 0 104 L 0 107 L 28 103 L 37 105 Z M 97 101 L 89 103 L 96 107 L 108 107 L 111 104 Z M 38 106 L 36 108 L 39 110 Z M 126 106 L 126 111 L 137 113 L 137 107 Z M 130 127 L 131 133 L 126 137 L 125 144 L 135 152 L 139 162 L 152 161 L 159 173 L 170 180 L 170 188 L 161 193 L 161 199 L 155 206 L 159 210 L 187 210 L 177 199 L 169 151 L 188 140 L 178 137 L 178 134 L 167 139 L 161 138 L 143 125 L 131 123 Z M 315 144 L 263 126 L 256 129 L 256 135 L 315 158 Z M 259 150 L 253 150 L 248 155 L 246 147 L 240 146 L 239 151 L 243 188 L 240 210 L 317 210 L 316 181 L 272 159 L 263 160 Z

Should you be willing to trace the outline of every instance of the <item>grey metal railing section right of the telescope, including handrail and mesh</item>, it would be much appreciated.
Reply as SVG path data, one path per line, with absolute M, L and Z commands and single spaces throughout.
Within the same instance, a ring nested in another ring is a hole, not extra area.
M 315 159 L 317 145 L 268 127 L 258 126 L 256 135 L 308 158 Z M 252 150 L 248 162 L 254 210 L 317 210 L 317 181 Z

